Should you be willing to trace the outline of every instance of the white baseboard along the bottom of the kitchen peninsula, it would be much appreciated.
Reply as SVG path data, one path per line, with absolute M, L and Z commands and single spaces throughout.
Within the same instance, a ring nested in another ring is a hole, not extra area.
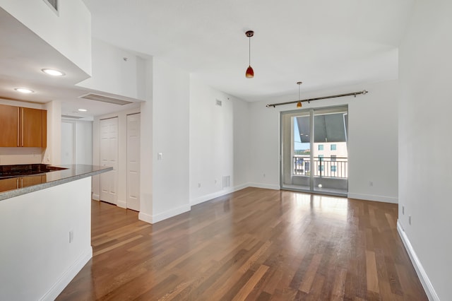
M 90 246 L 85 249 L 85 252 L 78 256 L 78 259 L 63 273 L 63 275 L 61 275 L 47 293 L 40 297 L 40 300 L 55 300 L 92 257 L 93 247 Z

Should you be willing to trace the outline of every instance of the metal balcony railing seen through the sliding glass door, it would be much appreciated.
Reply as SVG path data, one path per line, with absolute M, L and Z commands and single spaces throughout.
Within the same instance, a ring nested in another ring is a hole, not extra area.
M 297 155 L 293 159 L 294 175 L 310 176 L 314 172 L 314 177 L 348 177 L 348 158 L 314 157 L 314 164 L 309 155 Z

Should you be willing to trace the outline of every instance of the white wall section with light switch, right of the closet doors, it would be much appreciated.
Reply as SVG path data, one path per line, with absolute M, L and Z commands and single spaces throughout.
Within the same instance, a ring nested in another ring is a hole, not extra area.
M 150 223 L 190 210 L 189 89 L 189 73 L 153 58 L 153 151 L 142 154 L 153 155 L 153 205 L 152 216 L 140 214 Z M 162 160 L 157 160 L 158 153 Z

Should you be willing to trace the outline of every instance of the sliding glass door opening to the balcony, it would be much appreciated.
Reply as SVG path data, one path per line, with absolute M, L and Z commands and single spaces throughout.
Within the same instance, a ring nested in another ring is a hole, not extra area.
M 281 112 L 281 188 L 346 195 L 347 106 Z

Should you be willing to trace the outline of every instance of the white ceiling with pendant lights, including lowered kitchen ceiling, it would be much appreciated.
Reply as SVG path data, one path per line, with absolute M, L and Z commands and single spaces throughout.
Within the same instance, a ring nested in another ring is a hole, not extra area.
M 295 100 L 297 81 L 303 81 L 303 93 L 359 83 L 363 83 L 364 89 L 364 83 L 397 78 L 397 48 L 414 3 L 414 0 L 83 1 L 92 13 L 94 37 L 134 52 L 164 57 L 214 88 L 243 100 L 267 102 Z M 32 66 L 18 63 L 23 57 L 35 55 L 37 47 L 30 52 L 24 42 L 15 40 L 11 28 L 20 30 L 20 25 L 12 26 L 13 20 L 6 17 L 4 13 L 0 16 L 0 38 L 8 40 L 0 43 L 1 96 L 18 98 L 15 91 L 8 90 L 10 85 L 30 83 L 37 87 L 35 90 L 44 92 L 31 95 L 35 98 L 32 101 L 63 100 L 65 114 L 78 105 L 100 106 L 90 110 L 90 114 L 113 110 L 105 107 L 107 104 L 80 102 L 77 97 L 89 92 L 73 86 L 86 78 L 81 71 L 71 72 L 76 74 L 74 78 L 57 82 L 43 73 L 33 73 Z M 246 30 L 255 32 L 251 38 L 251 66 L 255 73 L 252 79 L 244 76 L 249 50 Z M 30 33 L 27 39 L 30 40 Z M 45 47 L 35 39 L 33 45 Z M 9 55 L 5 56 L 6 50 Z M 18 56 L 18 51 L 23 53 Z M 22 67 L 11 72 L 12 62 Z

